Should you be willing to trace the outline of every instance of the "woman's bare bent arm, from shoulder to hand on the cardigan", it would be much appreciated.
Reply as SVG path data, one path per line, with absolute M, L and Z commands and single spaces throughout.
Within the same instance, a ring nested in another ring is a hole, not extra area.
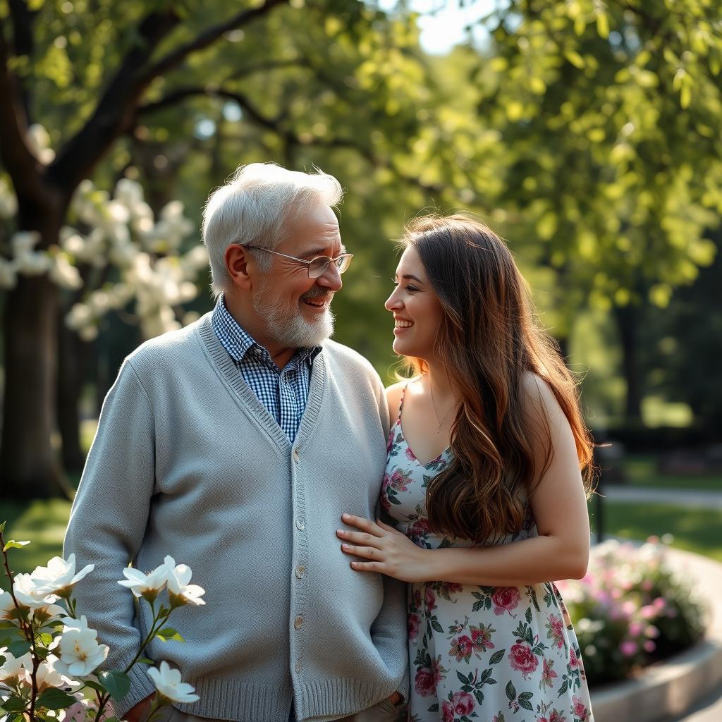
M 339 537 L 349 544 L 344 552 L 360 559 L 352 562 L 356 570 L 409 582 L 480 586 L 521 586 L 585 575 L 589 520 L 574 438 L 549 387 L 531 374 L 524 383 L 530 438 L 545 438 L 545 414 L 552 443 L 549 466 L 530 499 L 539 536 L 495 547 L 421 549 L 386 524 L 344 515 L 345 523 L 361 530 L 339 530 Z M 538 446 L 534 455 L 541 469 L 544 444 Z

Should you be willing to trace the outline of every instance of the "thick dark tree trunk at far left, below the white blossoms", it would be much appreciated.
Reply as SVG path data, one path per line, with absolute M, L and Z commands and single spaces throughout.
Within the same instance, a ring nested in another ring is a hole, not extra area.
M 47 498 L 60 490 L 51 444 L 55 421 L 58 288 L 47 277 L 21 277 L 6 297 L 5 396 L 0 495 Z

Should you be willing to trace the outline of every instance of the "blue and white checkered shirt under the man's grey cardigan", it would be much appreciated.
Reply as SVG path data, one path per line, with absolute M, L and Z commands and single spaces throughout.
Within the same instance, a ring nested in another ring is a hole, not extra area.
M 230 315 L 222 296 L 213 309 L 212 321 L 216 336 L 234 360 L 245 383 L 293 441 L 308 401 L 313 360 L 321 347 L 298 349 L 283 369 L 279 369 L 269 352 Z

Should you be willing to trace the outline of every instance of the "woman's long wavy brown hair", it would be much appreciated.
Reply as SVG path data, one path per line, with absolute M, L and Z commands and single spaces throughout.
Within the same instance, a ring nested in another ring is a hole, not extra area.
M 593 441 L 578 384 L 557 342 L 539 326 L 503 240 L 483 223 L 453 215 L 415 219 L 402 242 L 419 254 L 442 305 L 434 354 L 458 399 L 451 464 L 427 487 L 431 528 L 476 544 L 522 528 L 527 499 L 552 457 L 547 419 L 541 419 L 541 439 L 530 438 L 524 421 L 530 399 L 523 376 L 529 372 L 547 383 L 567 417 L 589 495 Z M 415 373 L 427 373 L 422 359 L 407 361 Z M 545 451 L 541 469 L 535 468 L 533 443 Z

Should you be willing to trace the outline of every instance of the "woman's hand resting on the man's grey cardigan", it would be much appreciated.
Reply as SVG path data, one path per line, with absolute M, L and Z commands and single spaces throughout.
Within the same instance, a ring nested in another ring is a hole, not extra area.
M 351 514 L 343 514 L 342 520 L 360 531 L 339 529 L 336 536 L 343 539 L 341 549 L 345 554 L 359 557 L 351 566 L 358 572 L 380 572 L 404 582 L 427 581 L 428 550 L 421 549 L 413 541 L 393 527 L 378 521 Z

